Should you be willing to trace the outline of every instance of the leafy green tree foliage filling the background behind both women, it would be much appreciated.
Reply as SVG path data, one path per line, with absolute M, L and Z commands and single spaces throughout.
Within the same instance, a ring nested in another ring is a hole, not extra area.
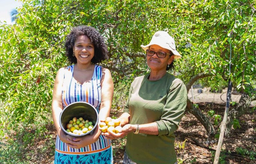
M 46 119 L 56 72 L 68 65 L 63 48 L 65 36 L 73 26 L 81 24 L 95 27 L 106 39 L 110 55 L 103 66 L 112 72 L 116 105 L 123 101 L 121 97 L 126 98 L 123 93 L 127 93 L 133 78 L 148 72 L 140 45 L 147 44 L 159 30 L 168 31 L 176 41 L 183 58 L 175 61 L 178 67 L 172 73 L 187 88 L 196 80 L 209 86 L 230 78 L 252 100 L 256 73 L 253 0 L 22 2 L 17 24 L 0 26 L 0 99 L 6 109 L 3 115 L 8 116 L 0 120 L 1 126 L 8 122 L 9 127 L 15 127 L 21 121 L 27 125 L 38 117 Z M 188 110 L 209 134 L 213 132 L 208 116 L 189 100 Z

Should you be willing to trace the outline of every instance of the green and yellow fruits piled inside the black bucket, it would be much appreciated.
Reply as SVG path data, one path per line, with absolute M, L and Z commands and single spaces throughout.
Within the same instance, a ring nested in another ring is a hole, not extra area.
M 73 134 L 83 134 L 87 133 L 94 127 L 92 121 L 84 120 L 82 117 L 77 119 L 74 117 L 72 120 L 69 121 L 67 124 L 67 132 L 73 133 Z

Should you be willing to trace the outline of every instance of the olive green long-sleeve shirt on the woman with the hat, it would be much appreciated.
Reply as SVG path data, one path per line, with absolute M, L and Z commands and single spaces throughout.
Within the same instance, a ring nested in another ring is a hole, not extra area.
M 187 105 L 187 89 L 180 79 L 166 73 L 157 81 L 148 75 L 135 78 L 124 112 L 130 124 L 156 122 L 158 135 L 127 135 L 126 153 L 137 164 L 174 164 L 177 161 L 173 132 Z

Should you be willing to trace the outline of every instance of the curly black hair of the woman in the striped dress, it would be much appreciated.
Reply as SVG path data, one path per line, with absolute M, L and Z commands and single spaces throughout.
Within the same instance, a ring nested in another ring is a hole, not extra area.
M 74 27 L 70 34 L 68 34 L 66 37 L 66 56 L 71 64 L 77 63 L 76 57 L 73 56 L 73 46 L 76 39 L 81 35 L 86 35 L 94 45 L 94 57 L 91 60 L 92 64 L 101 63 L 101 61 L 108 59 L 108 49 L 104 38 L 95 28 L 82 25 Z

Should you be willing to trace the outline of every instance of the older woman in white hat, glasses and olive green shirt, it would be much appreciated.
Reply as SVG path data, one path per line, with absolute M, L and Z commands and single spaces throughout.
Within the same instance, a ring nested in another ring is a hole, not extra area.
M 151 71 L 132 82 L 124 112 L 117 118 L 122 132 L 103 135 L 110 139 L 127 135 L 124 164 L 174 164 L 173 133 L 186 108 L 187 90 L 167 70 L 181 55 L 173 38 L 164 31 L 156 32 L 150 43 L 141 47 Z

